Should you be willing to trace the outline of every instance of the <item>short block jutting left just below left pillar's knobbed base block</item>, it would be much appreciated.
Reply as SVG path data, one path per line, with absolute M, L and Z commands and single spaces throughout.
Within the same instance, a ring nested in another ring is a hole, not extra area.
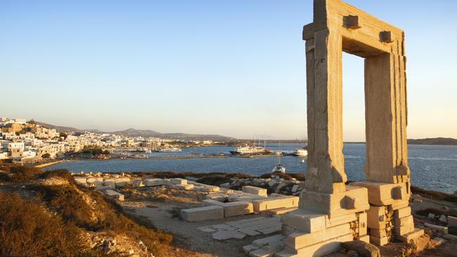
M 297 209 L 281 216 L 281 222 L 297 230 L 312 233 L 326 229 L 326 215 Z

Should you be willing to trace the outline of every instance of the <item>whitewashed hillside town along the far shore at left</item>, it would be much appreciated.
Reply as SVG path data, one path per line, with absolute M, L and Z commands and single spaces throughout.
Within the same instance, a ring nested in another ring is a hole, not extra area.
M 112 152 L 149 152 L 172 145 L 211 145 L 211 140 L 171 140 L 166 138 L 121 136 L 90 131 L 59 132 L 25 119 L 0 118 L 0 160 L 34 163 L 65 157 L 107 158 Z M 97 150 L 99 154 L 94 154 Z M 103 153 L 103 154 L 102 154 Z M 75 155 L 77 154 L 77 155 Z

